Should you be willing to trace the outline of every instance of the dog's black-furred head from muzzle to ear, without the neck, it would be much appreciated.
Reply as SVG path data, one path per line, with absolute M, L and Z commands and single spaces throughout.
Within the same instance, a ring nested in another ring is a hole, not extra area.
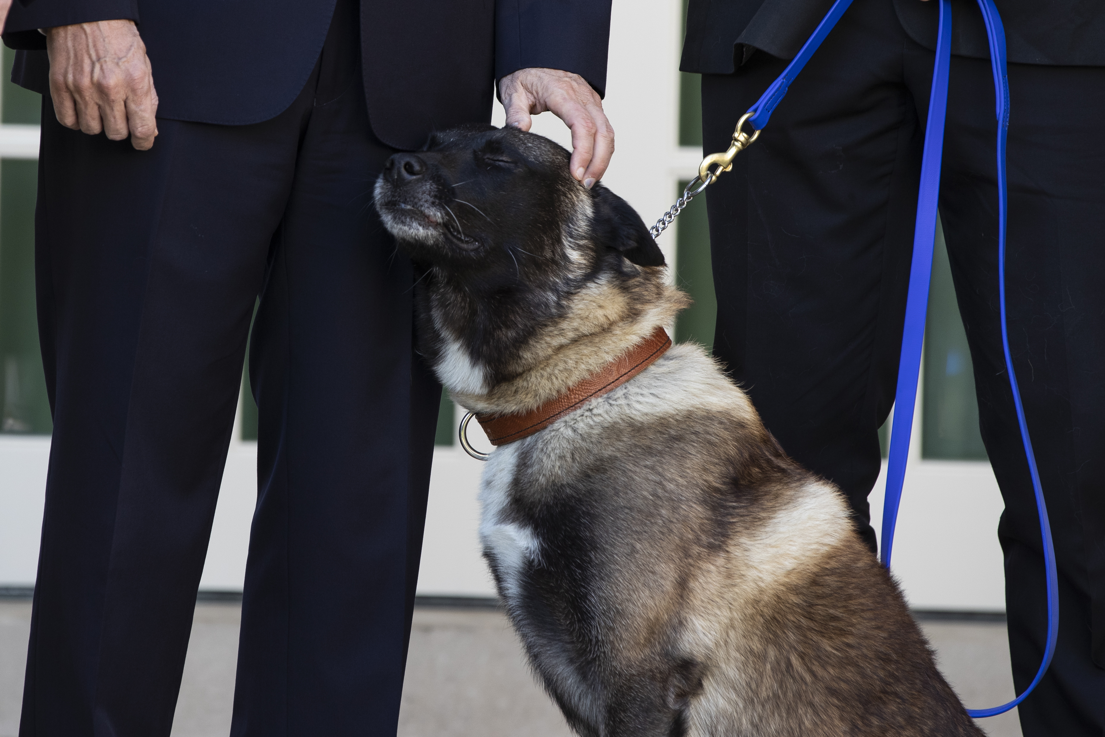
M 526 255 L 578 262 L 588 250 L 612 263 L 662 266 L 636 212 L 601 185 L 585 189 L 568 172 L 569 158 L 515 128 L 454 128 L 431 136 L 422 151 L 392 156 L 376 207 L 415 262 L 476 281 L 522 278 L 524 262 L 533 280 L 537 264 Z

